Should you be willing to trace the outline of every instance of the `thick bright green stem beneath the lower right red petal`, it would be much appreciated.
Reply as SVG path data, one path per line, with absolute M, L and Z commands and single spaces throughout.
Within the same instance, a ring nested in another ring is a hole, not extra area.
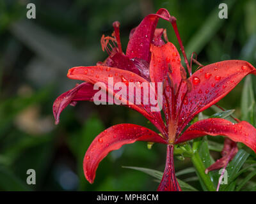
M 208 191 L 216 191 L 209 175 L 205 174 L 205 166 L 202 162 L 202 159 L 200 158 L 198 152 L 195 152 L 195 154 L 191 157 L 192 163 L 195 166 L 196 173 L 198 177 L 204 182 L 205 186 L 207 187 Z

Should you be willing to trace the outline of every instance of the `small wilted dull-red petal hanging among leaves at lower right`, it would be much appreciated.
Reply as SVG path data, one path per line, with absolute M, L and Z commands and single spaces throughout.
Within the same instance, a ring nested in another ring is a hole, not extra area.
M 218 159 L 215 163 L 211 164 L 206 170 L 205 173 L 209 171 L 218 170 L 220 168 L 225 168 L 229 161 L 231 161 L 236 153 L 238 152 L 237 143 L 225 138 L 224 147 L 221 151 L 221 158 Z

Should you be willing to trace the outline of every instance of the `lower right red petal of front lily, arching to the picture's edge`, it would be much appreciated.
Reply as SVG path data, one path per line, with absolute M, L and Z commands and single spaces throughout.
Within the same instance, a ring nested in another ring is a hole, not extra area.
M 256 152 L 256 129 L 248 122 L 232 123 L 225 119 L 204 119 L 195 122 L 175 141 L 182 143 L 204 135 L 223 135 L 234 142 L 242 142 Z

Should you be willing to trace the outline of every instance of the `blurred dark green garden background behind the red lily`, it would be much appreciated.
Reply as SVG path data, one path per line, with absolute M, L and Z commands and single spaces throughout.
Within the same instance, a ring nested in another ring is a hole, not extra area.
M 36 19 L 26 18 L 28 3 L 35 3 Z M 228 19 L 218 18 L 220 3 L 227 3 Z M 143 116 L 121 106 L 82 101 L 68 106 L 55 126 L 52 103 L 77 83 L 66 77 L 68 68 L 106 59 L 100 37 L 113 32 L 112 22 L 120 21 L 125 50 L 129 31 L 159 8 L 177 18 L 189 57 L 195 51 L 204 65 L 244 59 L 256 66 L 255 0 L 0 1 L 0 190 L 156 190 L 154 179 L 122 166 L 163 171 L 164 145 L 151 150 L 143 142 L 125 145 L 100 163 L 93 185 L 83 175 L 83 156 L 97 134 L 123 122 L 154 129 Z M 168 22 L 159 20 L 158 27 L 166 28 L 169 40 L 179 47 Z M 236 109 L 238 118 L 242 89 L 243 82 L 219 103 Z M 189 159 L 175 163 L 177 171 L 188 166 Z M 29 186 L 26 171 L 31 168 L 36 185 Z

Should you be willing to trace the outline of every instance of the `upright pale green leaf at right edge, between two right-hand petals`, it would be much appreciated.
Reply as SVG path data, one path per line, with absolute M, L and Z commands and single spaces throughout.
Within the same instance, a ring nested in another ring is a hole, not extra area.
M 255 98 L 252 87 L 252 77 L 248 75 L 244 82 L 241 97 L 241 118 L 255 124 Z

